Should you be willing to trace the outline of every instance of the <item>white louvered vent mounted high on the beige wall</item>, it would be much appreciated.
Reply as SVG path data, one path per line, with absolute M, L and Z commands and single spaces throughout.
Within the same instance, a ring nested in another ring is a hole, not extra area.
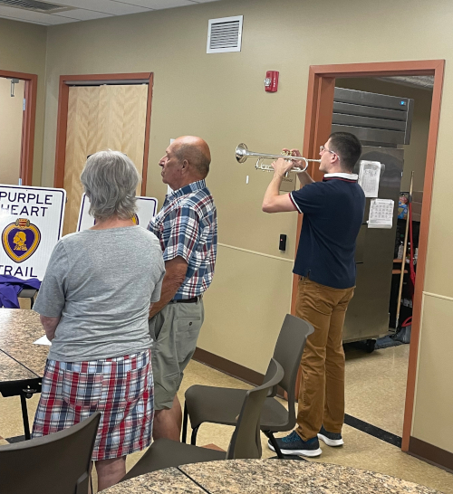
M 210 19 L 207 29 L 207 53 L 240 52 L 244 15 Z

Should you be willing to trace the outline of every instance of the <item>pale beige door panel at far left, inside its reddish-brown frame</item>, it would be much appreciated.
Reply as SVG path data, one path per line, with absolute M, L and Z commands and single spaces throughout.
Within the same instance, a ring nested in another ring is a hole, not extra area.
M 24 81 L 14 84 L 0 77 L 0 184 L 17 185 L 21 171 Z

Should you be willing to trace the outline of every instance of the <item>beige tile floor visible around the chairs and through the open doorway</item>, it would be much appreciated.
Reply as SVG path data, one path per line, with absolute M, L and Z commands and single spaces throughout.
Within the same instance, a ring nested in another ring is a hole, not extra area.
M 346 413 L 400 435 L 408 356 L 407 345 L 376 350 L 372 354 L 366 354 L 360 349 L 347 348 Z M 192 361 L 179 392 L 181 402 L 186 389 L 194 384 L 248 387 L 229 375 Z M 38 399 L 38 396 L 34 396 L 28 400 L 31 422 Z M 0 396 L 0 444 L 5 443 L 2 437 L 23 433 L 19 398 Z M 231 433 L 232 429 L 227 426 L 203 424 L 198 432 L 198 444 L 215 443 L 226 450 Z M 453 494 L 453 474 L 419 461 L 399 448 L 347 425 L 343 428 L 343 438 L 345 445 L 342 448 L 329 448 L 321 443 L 323 455 L 312 461 L 378 471 L 439 489 L 446 494 Z M 128 470 L 139 460 L 141 454 L 140 452 L 130 455 Z M 275 456 L 275 453 L 267 449 L 263 436 L 263 457 L 271 456 Z

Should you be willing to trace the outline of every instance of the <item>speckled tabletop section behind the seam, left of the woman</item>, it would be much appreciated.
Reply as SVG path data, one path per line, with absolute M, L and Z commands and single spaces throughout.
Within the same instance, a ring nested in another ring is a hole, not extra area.
M 43 376 L 49 347 L 33 342 L 45 334 L 34 310 L 0 310 L 0 350 L 28 369 Z

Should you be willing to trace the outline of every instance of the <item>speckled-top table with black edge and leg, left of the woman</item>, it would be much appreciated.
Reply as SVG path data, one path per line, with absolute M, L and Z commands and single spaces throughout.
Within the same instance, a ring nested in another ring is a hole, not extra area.
M 20 396 L 25 439 L 30 439 L 26 399 L 41 392 L 49 347 L 34 345 L 44 334 L 33 310 L 0 309 L 0 394 Z

